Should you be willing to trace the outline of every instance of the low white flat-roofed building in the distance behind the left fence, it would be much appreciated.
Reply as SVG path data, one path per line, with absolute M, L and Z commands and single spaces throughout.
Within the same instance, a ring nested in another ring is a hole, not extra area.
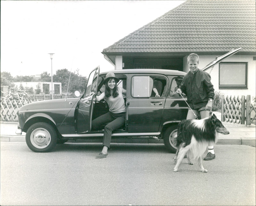
M 61 82 L 13 82 L 15 84 L 15 87 L 17 86 L 18 88 L 20 85 L 23 86 L 23 88 L 33 88 L 35 91 L 37 88 L 41 89 L 41 92 L 44 92 L 46 94 L 51 93 L 52 91 L 52 84 L 53 84 L 53 94 L 61 94 Z

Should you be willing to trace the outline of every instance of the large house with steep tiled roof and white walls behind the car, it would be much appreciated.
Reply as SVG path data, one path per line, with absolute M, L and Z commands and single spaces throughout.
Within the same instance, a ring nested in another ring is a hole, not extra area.
M 256 22 L 254 0 L 188 0 L 132 32 L 102 54 L 115 69 L 155 68 L 188 72 L 187 57 L 199 68 L 232 49 L 239 52 L 210 73 L 216 91 L 255 96 Z

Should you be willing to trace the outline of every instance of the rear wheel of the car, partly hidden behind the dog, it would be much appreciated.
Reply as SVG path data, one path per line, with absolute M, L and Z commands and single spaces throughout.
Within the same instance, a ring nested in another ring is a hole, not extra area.
M 176 153 L 176 138 L 177 138 L 177 126 L 172 125 L 166 129 L 164 132 L 164 145 L 171 153 Z

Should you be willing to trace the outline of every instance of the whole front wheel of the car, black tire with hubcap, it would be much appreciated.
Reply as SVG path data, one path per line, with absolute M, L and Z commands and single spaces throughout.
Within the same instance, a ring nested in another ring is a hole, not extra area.
M 26 143 L 34 152 L 50 152 L 57 143 L 57 132 L 49 124 L 37 122 L 28 128 Z

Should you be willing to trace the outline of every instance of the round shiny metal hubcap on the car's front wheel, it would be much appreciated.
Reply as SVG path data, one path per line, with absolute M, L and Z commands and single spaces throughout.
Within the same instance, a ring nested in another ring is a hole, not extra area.
M 51 134 L 44 128 L 37 128 L 31 133 L 30 141 L 34 147 L 43 149 L 51 142 Z

